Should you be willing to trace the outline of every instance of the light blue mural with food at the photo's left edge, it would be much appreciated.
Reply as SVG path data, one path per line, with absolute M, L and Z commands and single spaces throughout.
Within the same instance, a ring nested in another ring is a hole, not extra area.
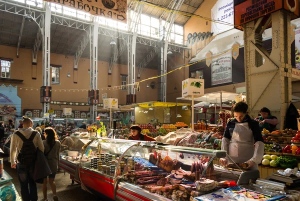
M 1 85 L 0 115 L 21 115 L 21 98 L 17 96 L 17 85 Z

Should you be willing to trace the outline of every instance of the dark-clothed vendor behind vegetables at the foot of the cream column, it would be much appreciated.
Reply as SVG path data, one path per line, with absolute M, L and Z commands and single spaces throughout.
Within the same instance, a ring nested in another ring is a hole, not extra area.
M 270 110 L 266 107 L 262 107 L 259 112 L 261 116 L 255 118 L 255 120 L 259 122 L 260 131 L 262 131 L 263 128 L 270 132 L 276 130 L 276 125 L 278 124 L 277 117 L 272 116 Z

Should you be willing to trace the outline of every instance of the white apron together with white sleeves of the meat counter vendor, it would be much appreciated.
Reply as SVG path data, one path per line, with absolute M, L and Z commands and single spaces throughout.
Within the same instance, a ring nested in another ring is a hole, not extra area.
M 231 140 L 224 137 L 222 139 L 221 150 L 226 150 L 230 158 L 236 163 L 246 162 L 251 160 L 254 162 L 252 169 L 258 169 L 264 145 L 263 142 L 257 141 L 254 147 L 253 132 L 249 128 L 248 123 L 236 123 L 232 132 Z M 228 162 L 231 161 L 228 157 Z

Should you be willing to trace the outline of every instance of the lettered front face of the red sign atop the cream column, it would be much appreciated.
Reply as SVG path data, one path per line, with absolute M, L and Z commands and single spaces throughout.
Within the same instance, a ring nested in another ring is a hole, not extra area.
M 234 24 L 241 25 L 282 8 L 282 0 L 247 0 L 234 6 Z

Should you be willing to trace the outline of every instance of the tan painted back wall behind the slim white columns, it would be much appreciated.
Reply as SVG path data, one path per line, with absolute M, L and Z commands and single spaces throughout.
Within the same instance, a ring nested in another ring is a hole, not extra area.
M 23 82 L 3 81 L 0 84 L 17 85 L 17 94 L 22 99 L 21 111 L 24 108 L 41 109 L 40 103 L 40 86 L 42 86 L 42 51 L 38 52 L 36 79 L 32 79 L 32 50 L 20 48 L 19 57 L 16 57 L 16 47 L 0 45 L 0 57 L 11 58 L 11 76 L 12 79 L 22 79 Z M 89 88 L 89 59 L 80 58 L 78 63 L 77 83 L 73 83 L 73 56 L 65 56 L 63 54 L 50 54 L 50 63 L 61 65 L 59 72 L 60 84 L 51 84 L 52 100 L 56 101 L 75 101 L 87 102 Z M 107 87 L 108 85 L 108 63 L 106 61 L 98 61 L 98 88 Z M 67 72 L 70 72 L 71 77 L 66 77 Z M 111 86 L 121 85 L 120 74 L 127 74 L 127 65 L 115 64 L 112 68 Z M 137 72 L 136 72 L 137 74 Z M 142 80 L 150 76 L 157 75 L 157 70 L 143 69 L 140 75 Z M 146 82 L 140 83 L 140 91 L 136 92 L 138 102 L 152 101 L 157 99 L 157 89 L 147 88 Z M 33 89 L 25 87 L 32 87 Z M 85 89 L 82 91 L 82 89 Z M 1 89 L 0 89 L 1 90 Z M 56 91 L 55 91 L 56 90 Z M 61 90 L 61 91 L 60 91 Z M 78 91 L 79 90 L 79 91 Z M 113 90 L 112 88 L 100 89 L 100 94 L 107 92 L 107 96 L 118 98 L 119 104 L 126 104 L 127 91 Z M 102 100 L 100 98 L 100 103 Z M 66 105 L 50 104 L 51 109 L 61 109 Z M 89 106 L 71 106 L 73 110 L 89 110 Z

